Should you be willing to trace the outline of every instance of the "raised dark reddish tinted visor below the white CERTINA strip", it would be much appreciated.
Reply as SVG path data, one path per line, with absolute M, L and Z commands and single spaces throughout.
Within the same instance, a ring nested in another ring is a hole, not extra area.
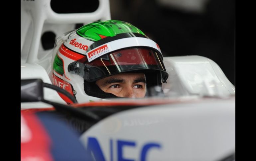
M 159 70 L 162 71 L 163 82 L 168 78 L 161 54 L 146 47 L 117 50 L 102 55 L 91 62 L 88 62 L 87 58 L 84 57 L 68 65 L 69 72 L 78 74 L 88 82 L 94 82 L 122 72 L 137 72 L 140 70 L 145 72 Z

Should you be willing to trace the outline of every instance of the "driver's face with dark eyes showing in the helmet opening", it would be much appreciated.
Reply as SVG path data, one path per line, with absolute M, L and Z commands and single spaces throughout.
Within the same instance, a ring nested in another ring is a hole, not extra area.
M 99 88 L 118 97 L 143 98 L 146 80 L 143 73 L 120 73 L 96 81 Z

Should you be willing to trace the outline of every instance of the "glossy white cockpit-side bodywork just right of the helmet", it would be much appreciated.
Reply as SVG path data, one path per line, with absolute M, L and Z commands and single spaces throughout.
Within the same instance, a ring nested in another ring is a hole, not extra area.
M 169 96 L 235 95 L 235 87 L 230 83 L 220 67 L 203 56 L 164 57 L 169 77 L 163 84 L 163 90 Z

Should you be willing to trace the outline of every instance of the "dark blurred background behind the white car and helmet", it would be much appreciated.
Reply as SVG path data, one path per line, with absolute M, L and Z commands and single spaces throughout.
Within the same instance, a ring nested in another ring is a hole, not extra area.
M 164 56 L 208 57 L 235 85 L 235 0 L 109 1 L 111 18 L 138 27 L 159 44 Z M 57 13 L 93 12 L 98 4 L 97 0 L 51 1 Z M 50 42 L 48 35 L 43 39 Z

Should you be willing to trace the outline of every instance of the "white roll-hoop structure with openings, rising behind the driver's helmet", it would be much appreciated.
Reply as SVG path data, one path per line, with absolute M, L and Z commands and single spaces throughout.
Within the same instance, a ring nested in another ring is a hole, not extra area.
M 110 7 L 108 0 L 99 0 L 99 6 L 92 13 L 55 13 L 50 5 L 51 0 L 21 0 L 21 62 L 38 63 L 41 35 L 43 31 L 59 34 L 74 29 L 74 24 L 88 24 L 97 20 L 109 20 Z M 89 7 L 89 6 L 85 6 Z M 53 27 L 54 26 L 54 27 Z M 63 27 L 65 26 L 65 27 Z M 55 30 L 52 30 L 52 29 Z M 30 41 L 30 43 L 28 43 Z

